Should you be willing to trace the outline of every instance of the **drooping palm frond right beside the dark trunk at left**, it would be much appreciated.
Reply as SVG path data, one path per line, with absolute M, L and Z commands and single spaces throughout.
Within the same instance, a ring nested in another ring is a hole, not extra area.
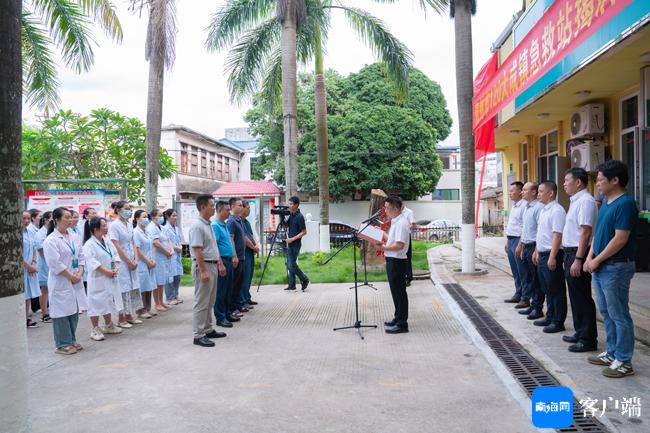
M 23 88 L 30 106 L 54 110 L 60 103 L 52 43 L 40 21 L 29 12 L 21 18 L 23 47 Z

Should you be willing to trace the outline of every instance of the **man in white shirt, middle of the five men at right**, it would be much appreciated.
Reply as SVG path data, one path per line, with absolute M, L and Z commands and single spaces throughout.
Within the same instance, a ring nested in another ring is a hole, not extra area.
M 539 283 L 546 294 L 546 317 L 533 323 L 535 326 L 543 326 L 544 332 L 552 334 L 564 331 L 567 313 L 564 254 L 560 248 L 566 211 L 555 200 L 557 197 L 555 182 L 549 180 L 542 182 L 537 197 L 544 208 L 539 214 L 533 262 L 537 264 Z

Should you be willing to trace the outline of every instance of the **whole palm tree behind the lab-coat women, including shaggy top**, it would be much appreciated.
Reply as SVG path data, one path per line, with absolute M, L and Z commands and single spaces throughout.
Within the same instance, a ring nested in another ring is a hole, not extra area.
M 149 22 L 145 58 L 149 61 L 147 91 L 147 136 L 145 168 L 145 203 L 153 209 L 158 203 L 158 176 L 160 166 L 160 134 L 165 69 L 176 58 L 176 4 L 174 0 L 149 0 Z M 142 11 L 145 0 L 132 0 L 134 9 Z

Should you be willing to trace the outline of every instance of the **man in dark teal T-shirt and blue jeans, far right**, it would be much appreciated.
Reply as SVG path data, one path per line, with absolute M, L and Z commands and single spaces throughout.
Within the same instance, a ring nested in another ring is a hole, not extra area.
M 584 270 L 592 273 L 607 336 L 607 351 L 590 356 L 589 362 L 606 366 L 603 375 L 614 378 L 634 374 L 634 324 L 628 301 L 639 211 L 634 199 L 625 194 L 627 182 L 627 167 L 621 161 L 605 161 L 598 166 L 598 190 L 604 199 L 584 264 Z

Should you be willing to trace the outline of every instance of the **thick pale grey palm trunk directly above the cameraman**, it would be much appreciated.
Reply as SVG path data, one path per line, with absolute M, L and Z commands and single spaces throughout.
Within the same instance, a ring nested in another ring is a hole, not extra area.
M 296 0 L 292 0 L 296 1 Z M 282 20 L 282 118 L 287 199 L 298 193 L 298 102 L 296 98 L 296 14 L 287 8 Z

